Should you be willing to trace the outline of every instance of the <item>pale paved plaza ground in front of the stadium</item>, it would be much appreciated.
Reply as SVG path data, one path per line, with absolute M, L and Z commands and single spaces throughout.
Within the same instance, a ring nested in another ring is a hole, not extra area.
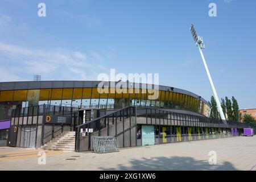
M 215 151 L 217 164 L 208 155 Z M 231 137 L 155 146 L 121 148 L 119 152 L 46 151 L 0 147 L 0 170 L 253 170 L 256 171 L 256 136 Z

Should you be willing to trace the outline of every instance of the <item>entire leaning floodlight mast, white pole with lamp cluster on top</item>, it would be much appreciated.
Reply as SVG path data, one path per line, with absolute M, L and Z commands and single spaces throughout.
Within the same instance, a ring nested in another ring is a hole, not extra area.
M 222 108 L 221 108 L 221 105 L 220 105 L 220 100 L 218 100 L 217 92 L 216 92 L 216 89 L 213 85 L 212 77 L 210 76 L 210 72 L 209 72 L 207 63 L 204 59 L 204 54 L 203 54 L 202 49 L 205 48 L 205 45 L 204 45 L 204 42 L 203 42 L 203 38 L 201 36 L 197 36 L 196 30 L 195 30 L 195 27 L 193 26 L 193 24 L 191 25 L 190 30 L 191 30 L 193 39 L 196 43 L 196 46 L 199 48 L 199 52 L 200 52 L 200 55 L 201 55 L 203 63 L 204 63 L 204 68 L 205 68 L 205 71 L 207 72 L 207 76 L 208 76 L 208 79 L 209 79 L 209 82 L 210 82 L 210 86 L 212 88 L 213 97 L 214 97 L 214 99 L 216 101 L 216 104 L 217 104 L 217 107 L 218 107 L 218 112 L 220 113 L 221 119 L 226 120 L 225 115 L 224 115 L 224 113 L 222 111 Z

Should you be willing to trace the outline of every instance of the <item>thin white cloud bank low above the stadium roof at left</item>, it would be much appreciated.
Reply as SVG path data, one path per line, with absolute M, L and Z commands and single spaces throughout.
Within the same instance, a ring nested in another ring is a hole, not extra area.
M 27 80 L 32 75 L 42 75 L 42 80 L 96 80 L 98 73 L 108 71 L 103 61 L 104 55 L 96 51 L 87 56 L 67 49 L 35 49 L 0 42 L 0 67 L 12 72 L 2 75 L 2 81 Z

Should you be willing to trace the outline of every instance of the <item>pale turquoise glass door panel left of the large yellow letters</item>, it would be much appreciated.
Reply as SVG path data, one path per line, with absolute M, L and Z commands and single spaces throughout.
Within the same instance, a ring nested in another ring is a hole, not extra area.
M 142 125 L 142 146 L 155 144 L 155 129 L 154 126 Z

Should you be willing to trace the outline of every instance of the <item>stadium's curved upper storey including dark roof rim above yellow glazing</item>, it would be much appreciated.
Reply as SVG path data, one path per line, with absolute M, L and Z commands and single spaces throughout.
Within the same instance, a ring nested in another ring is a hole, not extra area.
M 11 109 L 35 105 L 121 109 L 124 106 L 151 106 L 194 111 L 209 117 L 210 105 L 200 96 L 183 89 L 159 86 L 158 97 L 148 100 L 146 85 L 122 93 L 100 94 L 100 81 L 0 82 L 0 120 L 10 118 Z M 115 83 L 115 85 L 117 82 Z M 109 84 L 111 85 L 111 84 Z M 111 88 L 109 88 L 111 89 Z M 144 91 L 144 92 L 143 92 Z

